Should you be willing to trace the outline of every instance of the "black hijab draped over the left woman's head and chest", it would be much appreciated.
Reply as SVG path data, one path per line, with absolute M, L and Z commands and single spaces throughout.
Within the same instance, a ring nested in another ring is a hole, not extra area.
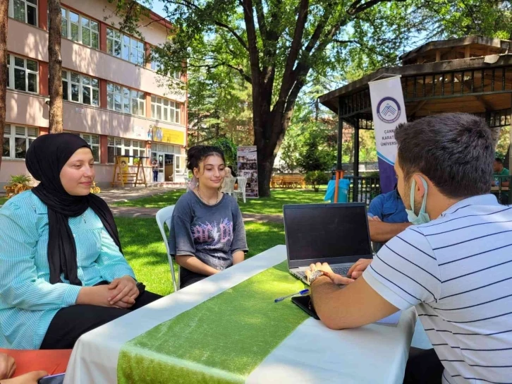
M 71 196 L 61 184 L 61 170 L 80 148 L 89 148 L 87 142 L 73 133 L 51 133 L 39 136 L 30 145 L 25 156 L 27 169 L 40 184 L 32 192 L 48 208 L 48 263 L 50 283 L 62 282 L 61 273 L 73 285 L 82 285 L 78 279 L 75 239 L 68 224 L 69 217 L 83 214 L 87 208 L 98 215 L 107 232 L 121 250 L 114 216 L 102 198 L 90 193 Z

